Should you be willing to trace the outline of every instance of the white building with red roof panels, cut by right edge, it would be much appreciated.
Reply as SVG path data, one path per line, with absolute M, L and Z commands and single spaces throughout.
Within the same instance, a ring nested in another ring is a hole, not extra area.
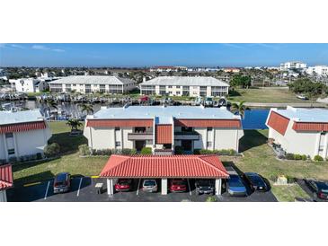
M 266 125 L 269 137 L 287 153 L 327 157 L 328 110 L 271 109 Z

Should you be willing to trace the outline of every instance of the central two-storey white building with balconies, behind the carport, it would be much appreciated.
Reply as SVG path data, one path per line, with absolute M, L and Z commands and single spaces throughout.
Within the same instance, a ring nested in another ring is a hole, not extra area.
M 244 136 L 240 116 L 226 108 L 125 106 L 102 108 L 87 116 L 84 136 L 92 149 L 137 149 L 184 153 L 195 149 L 233 149 Z

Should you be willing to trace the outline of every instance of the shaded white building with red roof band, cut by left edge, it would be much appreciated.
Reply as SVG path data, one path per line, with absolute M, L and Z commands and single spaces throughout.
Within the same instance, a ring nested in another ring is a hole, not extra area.
M 50 136 L 40 110 L 0 111 L 0 161 L 3 163 L 43 154 Z

